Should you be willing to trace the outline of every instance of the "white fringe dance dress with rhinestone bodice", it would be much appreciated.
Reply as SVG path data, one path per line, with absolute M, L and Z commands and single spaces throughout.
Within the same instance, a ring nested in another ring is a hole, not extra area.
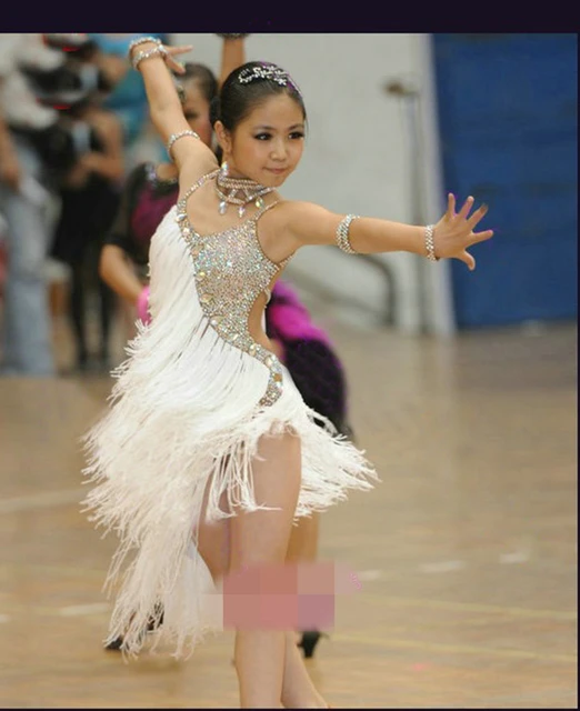
M 94 484 L 86 509 L 120 539 L 106 582 L 117 594 L 107 642 L 122 635 L 130 654 L 161 611 L 153 648 L 169 642 L 176 657 L 221 629 L 219 588 L 196 534 L 204 495 L 209 521 L 264 508 L 252 487 L 262 435 L 291 429 L 300 437 L 294 520 L 377 478 L 249 333 L 253 303 L 286 266 L 271 262 L 257 237 L 259 218 L 276 203 L 220 233 L 200 236 L 190 223 L 187 199 L 216 174 L 190 188 L 151 240 L 151 322 L 139 326 L 112 373 L 107 412 L 84 438 L 83 473 Z

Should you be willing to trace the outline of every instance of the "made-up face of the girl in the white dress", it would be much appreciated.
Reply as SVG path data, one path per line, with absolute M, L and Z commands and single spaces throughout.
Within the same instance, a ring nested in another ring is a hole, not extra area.
M 229 174 L 269 188 L 280 187 L 294 171 L 304 148 L 304 130 L 302 109 L 286 93 L 258 104 L 231 133 L 220 121 L 216 124 Z

